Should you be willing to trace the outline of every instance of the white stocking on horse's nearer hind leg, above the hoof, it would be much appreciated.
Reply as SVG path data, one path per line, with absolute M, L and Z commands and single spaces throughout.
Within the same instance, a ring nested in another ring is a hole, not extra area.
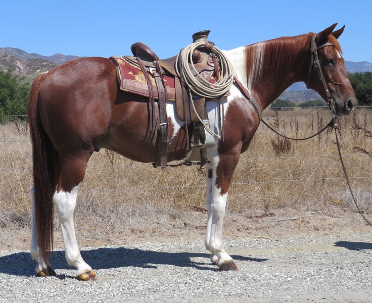
M 56 191 L 53 195 L 58 219 L 61 223 L 66 261 L 68 265 L 77 269 L 77 276 L 91 270 L 91 267 L 81 258 L 75 235 L 73 215 L 79 186 L 80 184 L 75 186 L 71 192 Z

